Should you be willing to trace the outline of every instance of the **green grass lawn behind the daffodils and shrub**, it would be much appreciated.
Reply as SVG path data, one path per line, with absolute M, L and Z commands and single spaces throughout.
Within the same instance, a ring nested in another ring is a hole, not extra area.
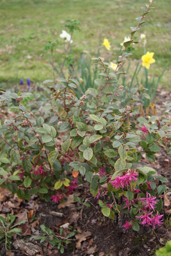
M 72 53 L 76 59 L 84 51 L 90 56 L 97 54 L 99 38 L 106 36 L 112 45 L 110 51 L 103 46 L 100 56 L 115 62 L 120 43 L 129 36 L 130 26 L 136 26 L 135 17 L 142 14 L 141 6 L 148 0 L 10 0 L 1 1 L 0 30 L 0 81 L 33 82 L 52 79 L 50 53 L 45 53 L 48 40 L 57 41 L 55 63 L 63 60 L 63 41 L 59 34 L 65 30 L 67 18 L 77 19 L 81 31 L 73 36 Z M 171 1 L 158 0 L 149 14 L 149 22 L 142 25 L 140 33 L 147 37 L 147 51 L 155 52 L 157 74 L 165 65 L 168 69 L 162 79 L 162 86 L 170 83 L 170 41 L 171 41 Z M 29 39 L 33 37 L 33 39 Z M 24 39 L 24 40 L 23 40 Z M 143 55 L 142 43 L 135 45 L 132 59 L 140 60 Z

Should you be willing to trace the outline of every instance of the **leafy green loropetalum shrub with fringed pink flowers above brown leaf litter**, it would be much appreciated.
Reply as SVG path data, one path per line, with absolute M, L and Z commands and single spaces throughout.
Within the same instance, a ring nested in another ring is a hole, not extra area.
M 115 214 L 129 214 L 123 227 L 139 231 L 139 224 L 163 223 L 162 197 L 167 179 L 144 166 L 155 162 L 161 146 L 170 154 L 171 104 L 158 110 L 157 116 L 141 116 L 139 91 L 133 88 L 124 97 L 117 81 L 120 67 L 134 42 L 133 35 L 150 6 L 142 9 L 137 27 L 132 27 L 130 41 L 120 56 L 115 72 L 103 58 L 94 58 L 101 79 L 98 90 L 89 88 L 77 99 L 73 88 L 79 82 L 69 73 L 57 78 L 47 89 L 51 100 L 39 93 L 22 94 L 1 90 L 0 184 L 19 198 L 29 200 L 37 194 L 45 201 L 63 202 L 74 192 L 82 177 L 90 184 L 90 193 L 98 200 L 102 213 L 110 219 Z M 135 100 L 136 99 L 136 100 Z

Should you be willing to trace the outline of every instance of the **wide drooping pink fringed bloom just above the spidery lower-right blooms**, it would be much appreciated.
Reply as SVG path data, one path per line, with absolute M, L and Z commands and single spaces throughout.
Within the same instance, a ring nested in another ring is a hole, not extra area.
M 138 175 L 135 169 L 127 169 L 124 175 L 117 176 L 114 181 L 110 181 L 109 183 L 111 183 L 115 189 L 120 187 L 124 188 L 125 186 L 129 186 L 132 181 L 136 182 Z

